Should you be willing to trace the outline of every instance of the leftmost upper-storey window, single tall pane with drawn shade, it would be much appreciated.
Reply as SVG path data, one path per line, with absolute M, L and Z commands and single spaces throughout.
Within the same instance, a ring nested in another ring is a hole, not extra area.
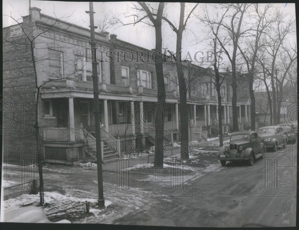
M 62 77 L 62 52 L 49 50 L 49 73 L 51 77 Z

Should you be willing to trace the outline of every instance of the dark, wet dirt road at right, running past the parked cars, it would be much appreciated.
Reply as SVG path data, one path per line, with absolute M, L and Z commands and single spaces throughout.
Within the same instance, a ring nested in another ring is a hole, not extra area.
M 290 166 L 292 152 L 293 162 L 297 162 L 296 144 L 288 147 L 285 153 L 279 154 L 278 166 Z M 296 182 L 292 171 L 278 171 L 278 190 L 286 193 L 286 197 L 255 197 L 254 193 L 264 190 L 264 160 L 256 160 L 251 167 L 229 163 L 221 170 L 187 181 L 185 190 L 192 192 L 193 197 L 157 197 L 159 202 L 155 200 L 146 212 L 123 217 L 114 223 L 188 227 L 295 226 L 296 188 L 280 188 L 281 183 L 290 183 L 292 179 Z M 282 195 L 275 191 L 274 195 Z

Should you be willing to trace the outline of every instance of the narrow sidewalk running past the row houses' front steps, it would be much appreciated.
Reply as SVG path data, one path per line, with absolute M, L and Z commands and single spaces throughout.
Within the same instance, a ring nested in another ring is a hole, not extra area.
M 229 136 L 224 138 L 224 141 L 229 140 Z M 213 141 L 205 141 L 205 142 L 199 142 L 194 144 L 194 146 L 211 146 L 213 144 L 219 143 L 219 138 L 215 139 Z M 180 155 L 181 149 L 179 147 L 175 147 L 173 149 L 173 155 Z M 154 156 L 149 156 L 149 162 L 152 162 Z M 130 157 L 129 159 L 129 167 L 135 166 L 137 164 L 147 164 L 148 155 L 140 155 L 138 157 Z M 102 165 L 104 172 L 115 172 L 115 162 L 111 162 L 108 164 Z M 97 170 L 97 167 L 91 167 L 91 170 Z

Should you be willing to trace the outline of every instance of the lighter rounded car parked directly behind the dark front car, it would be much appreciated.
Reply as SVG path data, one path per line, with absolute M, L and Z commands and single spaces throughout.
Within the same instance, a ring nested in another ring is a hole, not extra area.
M 258 138 L 262 141 L 267 148 L 274 148 L 277 144 L 282 144 L 286 147 L 287 138 L 283 133 L 280 126 L 265 126 L 259 129 Z

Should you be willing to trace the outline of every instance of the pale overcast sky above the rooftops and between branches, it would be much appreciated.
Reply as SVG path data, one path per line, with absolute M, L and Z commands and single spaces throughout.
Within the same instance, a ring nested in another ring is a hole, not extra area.
M 157 3 L 158 4 L 158 3 Z M 186 3 L 186 11 L 189 12 L 195 3 Z M 65 2 L 65 1 L 34 1 L 31 0 L 31 7 L 38 7 L 41 13 L 52 17 L 66 17 L 62 20 L 74 23 L 88 28 L 89 14 L 85 13 L 89 10 L 89 2 Z M 132 2 L 94 2 L 94 22 L 103 20 L 104 15 L 112 12 L 115 13 L 123 21 L 126 21 L 125 16 L 132 13 L 130 10 Z M 167 3 L 165 11 L 168 12 L 167 17 L 173 22 L 178 23 L 179 18 L 179 3 Z M 295 4 L 277 3 L 275 7 L 282 8 L 289 15 L 295 17 Z M 16 24 L 11 18 L 5 15 L 12 15 L 13 18 L 19 19 L 21 16 L 28 15 L 29 0 L 3 0 L 3 27 Z M 201 13 L 198 9 L 197 13 Z M 205 39 L 203 25 L 195 17 L 191 17 L 188 21 L 187 30 L 183 34 L 182 51 L 183 57 L 188 51 L 194 54 L 196 51 L 211 51 L 208 46 L 208 41 Z M 191 32 L 192 31 L 192 32 Z M 106 32 L 116 34 L 117 38 L 132 44 L 152 49 L 155 48 L 155 30 L 143 23 L 137 25 L 117 26 L 108 28 Z M 167 23 L 162 25 L 163 48 L 168 48 L 170 51 L 176 50 L 176 34 L 170 29 Z M 292 38 L 296 42 L 296 35 Z M 200 54 L 199 54 L 200 55 Z M 194 57 L 194 56 L 193 56 Z M 207 67 L 207 66 L 206 66 Z

